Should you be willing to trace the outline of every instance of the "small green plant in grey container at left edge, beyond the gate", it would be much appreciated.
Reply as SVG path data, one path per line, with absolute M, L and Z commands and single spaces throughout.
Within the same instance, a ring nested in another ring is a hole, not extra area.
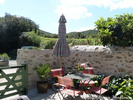
M 7 53 L 0 54 L 0 66 L 8 66 L 10 57 Z

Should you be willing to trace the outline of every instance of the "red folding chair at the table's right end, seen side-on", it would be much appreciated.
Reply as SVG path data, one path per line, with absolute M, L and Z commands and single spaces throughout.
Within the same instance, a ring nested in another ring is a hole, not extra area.
M 100 87 L 94 86 L 94 87 L 92 87 L 91 89 L 89 89 L 88 91 L 89 91 L 89 92 L 96 93 L 96 94 L 99 94 L 99 96 L 101 96 L 102 94 L 104 94 L 105 92 L 108 91 L 108 89 L 102 88 L 102 86 L 109 83 L 109 79 L 110 79 L 111 76 L 112 76 L 112 75 L 109 75 L 109 76 L 105 77 L 105 78 L 102 80 Z

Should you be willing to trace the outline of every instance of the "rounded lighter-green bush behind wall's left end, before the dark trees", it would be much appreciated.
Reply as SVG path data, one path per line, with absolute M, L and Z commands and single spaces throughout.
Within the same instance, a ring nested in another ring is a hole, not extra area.
M 20 36 L 21 47 L 22 46 L 40 46 L 40 36 L 38 36 L 34 31 L 32 32 L 23 32 Z

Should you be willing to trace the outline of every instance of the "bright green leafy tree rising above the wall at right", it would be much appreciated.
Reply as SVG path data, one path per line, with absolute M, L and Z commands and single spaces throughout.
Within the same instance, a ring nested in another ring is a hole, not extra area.
M 117 15 L 116 18 L 100 18 L 95 22 L 102 44 L 116 46 L 133 45 L 133 14 Z

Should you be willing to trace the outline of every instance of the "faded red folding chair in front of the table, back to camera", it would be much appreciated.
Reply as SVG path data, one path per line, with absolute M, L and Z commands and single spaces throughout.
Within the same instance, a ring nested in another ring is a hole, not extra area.
M 83 94 L 82 90 L 74 89 L 74 82 L 71 78 L 60 77 L 60 76 L 58 76 L 57 78 L 58 78 L 58 83 L 64 87 L 63 89 L 58 91 L 59 93 L 62 94 L 63 99 L 65 99 L 63 94 L 71 95 L 74 97 Z

